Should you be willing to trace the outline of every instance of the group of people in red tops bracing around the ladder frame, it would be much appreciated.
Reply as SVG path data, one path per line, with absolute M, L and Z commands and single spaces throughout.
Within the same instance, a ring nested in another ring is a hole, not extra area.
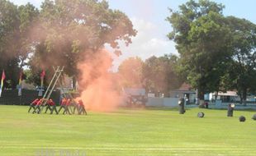
M 56 103 L 53 101 L 53 99 L 35 99 L 31 104 L 30 108 L 28 109 L 28 112 L 31 112 L 31 109 L 33 108 L 32 113 L 38 113 L 40 114 L 44 108 L 45 113 L 47 113 L 48 110 L 50 110 L 50 114 L 53 114 L 54 112 L 56 114 L 59 114 L 62 109 L 64 109 L 63 114 L 74 114 L 78 113 L 78 115 L 87 115 L 87 112 L 84 108 L 83 101 L 81 99 L 78 100 L 78 102 L 75 99 L 61 99 L 60 102 L 60 108 L 59 111 L 56 108 Z

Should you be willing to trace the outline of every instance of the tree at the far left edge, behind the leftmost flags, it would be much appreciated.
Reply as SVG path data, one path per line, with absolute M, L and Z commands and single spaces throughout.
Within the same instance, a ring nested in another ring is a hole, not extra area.
M 25 14 L 30 10 L 29 14 Z M 5 69 L 7 88 L 15 89 L 19 73 L 24 67 L 29 50 L 25 34 L 31 25 L 36 8 L 31 4 L 17 7 L 12 2 L 0 0 L 0 67 Z

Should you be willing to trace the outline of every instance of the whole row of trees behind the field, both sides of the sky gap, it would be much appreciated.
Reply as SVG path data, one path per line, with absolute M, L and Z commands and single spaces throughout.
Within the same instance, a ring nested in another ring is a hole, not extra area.
M 119 67 L 121 84 L 168 93 L 185 81 L 198 90 L 199 99 L 232 89 L 241 102 L 246 101 L 246 95 L 256 91 L 256 25 L 224 16 L 224 8 L 209 0 L 190 0 L 178 11 L 169 9 L 168 39 L 176 43 L 178 56 L 149 57 L 145 62 L 129 58 Z M 24 67 L 30 69 L 27 80 L 37 85 L 41 70 L 53 72 L 52 66 L 65 66 L 65 74 L 78 79 L 78 62 L 90 59 L 106 44 L 121 55 L 119 41 L 129 45 L 136 33 L 126 14 L 110 9 L 107 1 L 45 0 L 36 8 L 0 0 L 0 68 L 6 71 L 5 85 L 16 88 Z

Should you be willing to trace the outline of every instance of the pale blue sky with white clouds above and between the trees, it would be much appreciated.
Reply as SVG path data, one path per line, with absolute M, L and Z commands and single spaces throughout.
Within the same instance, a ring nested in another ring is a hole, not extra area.
M 40 7 L 42 0 L 11 0 L 17 5 L 31 2 Z M 153 55 L 162 56 L 164 53 L 176 53 L 175 44 L 166 37 L 172 30 L 168 21 L 168 7 L 178 10 L 178 6 L 187 0 L 107 0 L 111 9 L 118 9 L 126 13 L 133 22 L 137 36 L 132 39 L 129 47 L 121 44 L 121 57 L 115 57 L 114 66 L 127 57 L 141 57 L 146 59 Z M 225 5 L 225 16 L 237 16 L 256 23 L 255 0 L 214 0 Z

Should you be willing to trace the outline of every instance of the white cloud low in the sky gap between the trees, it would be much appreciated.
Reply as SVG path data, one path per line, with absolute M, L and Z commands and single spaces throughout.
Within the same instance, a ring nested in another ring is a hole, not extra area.
M 114 57 L 114 71 L 128 57 L 140 57 L 145 60 L 152 56 L 159 57 L 169 53 L 178 54 L 173 41 L 166 37 L 167 33 L 159 36 L 161 28 L 158 25 L 136 18 L 132 18 L 131 21 L 135 30 L 138 30 L 138 34 L 132 39 L 132 44 L 128 47 L 124 43 L 120 44 L 122 55 Z

